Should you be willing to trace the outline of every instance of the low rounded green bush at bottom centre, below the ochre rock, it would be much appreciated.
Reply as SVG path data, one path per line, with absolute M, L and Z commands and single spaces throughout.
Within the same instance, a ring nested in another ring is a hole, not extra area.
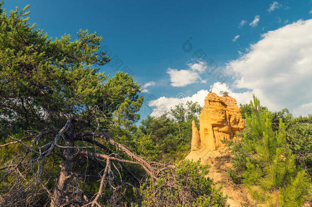
M 184 160 L 156 181 L 149 180 L 138 195 L 140 206 L 225 206 L 226 197 L 207 177 L 209 166 Z M 132 204 L 133 205 L 133 204 Z

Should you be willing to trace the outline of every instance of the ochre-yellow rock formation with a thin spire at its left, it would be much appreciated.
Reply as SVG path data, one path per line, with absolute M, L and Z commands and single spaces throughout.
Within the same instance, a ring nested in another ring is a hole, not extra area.
M 209 157 L 217 156 L 226 145 L 221 141 L 233 139 L 235 133 L 243 128 L 244 122 L 236 100 L 209 93 L 199 115 L 199 132 L 195 122 L 192 122 L 191 152 L 186 158 L 194 161 L 201 158 L 203 163 Z

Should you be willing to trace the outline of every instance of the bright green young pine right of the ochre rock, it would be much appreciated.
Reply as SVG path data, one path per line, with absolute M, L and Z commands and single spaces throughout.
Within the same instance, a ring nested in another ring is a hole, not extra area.
M 272 128 L 272 114 L 259 110 L 253 96 L 251 116 L 246 116 L 242 147 L 246 165 L 242 182 L 252 197 L 268 206 L 300 206 L 308 195 L 310 183 L 304 171 L 296 171 L 295 156 L 286 145 L 285 124 Z

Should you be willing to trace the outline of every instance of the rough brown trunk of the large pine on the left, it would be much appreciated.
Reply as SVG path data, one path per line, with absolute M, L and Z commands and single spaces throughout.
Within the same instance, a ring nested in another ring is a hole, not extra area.
M 74 146 L 74 135 L 75 128 L 74 124 L 71 123 L 68 132 L 64 133 L 65 146 Z M 58 177 L 57 186 L 53 191 L 53 197 L 51 198 L 51 207 L 58 207 L 65 202 L 69 202 L 67 193 L 67 187 L 69 183 L 69 178 L 71 178 L 71 155 L 73 154 L 73 149 L 64 149 L 63 151 L 63 162 L 61 164 L 61 171 Z

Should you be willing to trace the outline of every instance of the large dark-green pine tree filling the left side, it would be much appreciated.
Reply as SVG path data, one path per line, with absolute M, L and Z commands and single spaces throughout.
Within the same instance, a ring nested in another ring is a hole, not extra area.
M 80 30 L 76 40 L 66 34 L 52 40 L 29 24 L 28 8 L 0 9 L 0 206 L 44 206 L 49 202 L 60 206 L 65 194 L 68 197 L 74 189 L 73 180 L 79 190 L 71 199 L 82 195 L 82 189 L 97 190 L 96 181 L 65 175 L 97 175 L 102 170 L 102 163 L 90 164 L 85 159 L 92 159 L 89 154 L 80 156 L 73 154 L 74 150 L 120 153 L 95 137 L 86 140 L 100 149 L 86 147 L 89 144 L 79 132 L 103 129 L 125 140 L 140 119 L 143 97 L 132 76 L 117 72 L 110 77 L 99 72 L 99 66 L 110 60 L 100 51 L 102 37 Z M 62 135 L 54 139 L 58 131 Z M 36 140 L 31 140 L 34 137 Z M 51 141 L 54 144 L 46 145 Z M 46 153 L 39 152 L 41 145 L 46 145 Z M 115 164 L 109 160 L 109 165 Z M 119 169 L 114 173 L 121 175 L 120 166 L 126 164 L 115 166 Z M 123 180 L 132 174 L 126 172 Z

